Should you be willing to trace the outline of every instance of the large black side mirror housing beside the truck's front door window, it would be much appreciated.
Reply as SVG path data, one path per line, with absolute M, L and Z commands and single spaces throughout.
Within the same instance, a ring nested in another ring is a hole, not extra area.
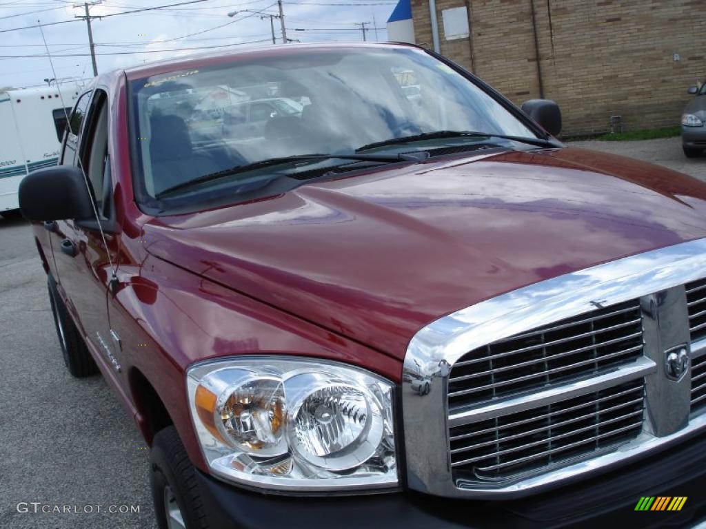
M 73 165 L 32 171 L 20 182 L 18 195 L 20 212 L 29 221 L 93 218 L 83 173 Z

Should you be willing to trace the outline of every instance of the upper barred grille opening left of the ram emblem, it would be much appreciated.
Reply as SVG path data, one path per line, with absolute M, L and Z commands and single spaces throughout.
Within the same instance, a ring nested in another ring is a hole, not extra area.
M 463 355 L 450 372 L 450 409 L 591 377 L 642 355 L 640 301 L 611 305 Z

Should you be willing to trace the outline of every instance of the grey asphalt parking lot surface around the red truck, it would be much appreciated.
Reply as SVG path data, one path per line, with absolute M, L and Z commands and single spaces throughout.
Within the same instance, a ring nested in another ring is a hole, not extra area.
M 706 157 L 686 159 L 680 141 L 574 145 L 706 181 Z M 0 219 L 0 241 L 0 527 L 154 527 L 148 450 L 101 377 L 73 379 L 64 368 L 28 224 Z M 28 513 L 18 512 L 20 502 L 28 503 Z M 42 504 L 39 513 L 30 502 Z M 41 512 L 55 505 L 72 512 Z M 109 506 L 138 506 L 139 512 L 111 514 Z

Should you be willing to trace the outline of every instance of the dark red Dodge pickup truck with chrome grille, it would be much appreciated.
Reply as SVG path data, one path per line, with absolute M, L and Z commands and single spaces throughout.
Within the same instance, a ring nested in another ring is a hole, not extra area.
M 702 519 L 706 186 L 560 130 L 402 44 L 100 75 L 20 206 L 160 527 Z

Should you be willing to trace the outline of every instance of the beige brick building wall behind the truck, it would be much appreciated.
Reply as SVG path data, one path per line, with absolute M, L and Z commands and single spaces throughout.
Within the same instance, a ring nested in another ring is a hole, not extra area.
M 469 36 L 444 35 L 459 14 Z M 429 0 L 412 16 L 433 47 Z M 436 0 L 436 16 L 441 54 L 515 103 L 556 100 L 563 135 L 606 132 L 611 116 L 626 130 L 677 125 L 706 78 L 706 0 Z

